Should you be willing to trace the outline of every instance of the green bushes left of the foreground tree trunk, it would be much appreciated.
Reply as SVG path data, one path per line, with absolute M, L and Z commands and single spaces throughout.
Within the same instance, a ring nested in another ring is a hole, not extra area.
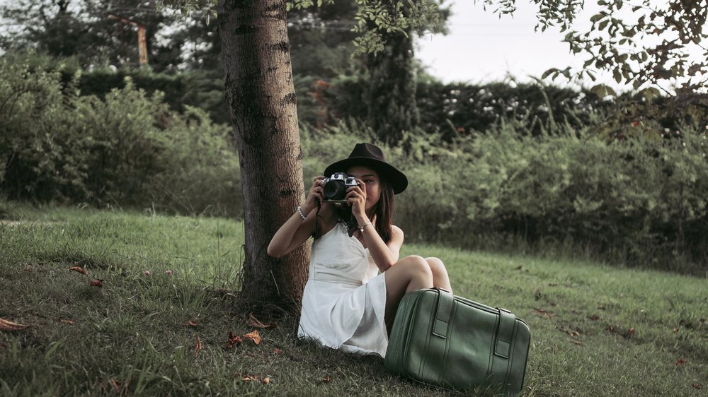
M 59 70 L 0 60 L 0 188 L 10 199 L 240 215 L 229 129 L 130 78 L 103 99 Z

